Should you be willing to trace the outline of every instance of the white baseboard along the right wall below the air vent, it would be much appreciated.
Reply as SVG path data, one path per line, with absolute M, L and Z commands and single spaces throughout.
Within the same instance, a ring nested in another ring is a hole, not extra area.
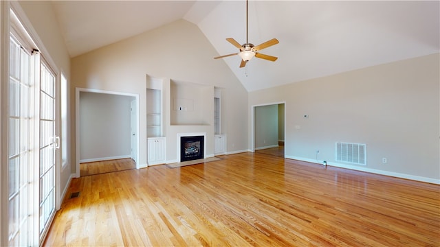
M 294 159 L 294 160 L 298 160 L 298 161 L 305 161 L 305 162 L 309 162 L 309 163 L 316 163 L 319 165 L 322 165 L 323 161 L 317 161 L 316 159 L 312 159 L 312 158 L 302 158 L 302 157 L 296 157 L 296 156 L 285 156 L 285 158 L 290 158 L 290 159 Z M 436 185 L 440 185 L 440 179 L 435 179 L 435 178 L 426 178 L 426 177 L 422 177 L 422 176 L 414 176 L 414 175 L 410 175 L 410 174 L 402 174 L 399 172 L 388 172 L 388 171 L 384 171 L 384 170 L 380 170 L 380 169 L 371 169 L 368 167 L 359 167 L 359 166 L 355 166 L 355 165 L 347 165 L 347 164 L 342 164 L 342 163 L 333 163 L 333 162 L 329 162 L 327 161 L 327 165 L 333 166 L 333 167 L 340 167 L 340 168 L 346 168 L 346 169 L 353 169 L 356 171 L 360 171 L 360 172 L 369 172 L 372 174 L 380 174 L 380 175 L 384 175 L 384 176 L 393 176 L 396 178 L 404 178 L 404 179 L 409 179 L 409 180 L 416 180 L 416 181 L 420 181 L 420 182 L 424 182 L 424 183 L 432 183 L 432 184 L 436 184 Z

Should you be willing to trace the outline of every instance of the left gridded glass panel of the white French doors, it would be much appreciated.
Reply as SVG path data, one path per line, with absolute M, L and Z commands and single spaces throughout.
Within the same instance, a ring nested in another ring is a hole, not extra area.
M 31 56 L 10 38 L 8 89 L 8 244 L 29 246 Z

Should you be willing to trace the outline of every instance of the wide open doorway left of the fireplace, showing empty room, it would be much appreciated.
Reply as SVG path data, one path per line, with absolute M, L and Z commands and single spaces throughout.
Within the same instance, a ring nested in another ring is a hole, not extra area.
M 139 96 L 76 89 L 76 176 L 137 168 Z

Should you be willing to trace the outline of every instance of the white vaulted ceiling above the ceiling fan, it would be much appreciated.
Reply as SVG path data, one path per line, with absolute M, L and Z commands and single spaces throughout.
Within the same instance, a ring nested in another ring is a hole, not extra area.
M 53 1 L 70 56 L 185 19 L 219 55 L 245 43 L 245 1 Z M 250 1 L 249 43 L 276 62 L 223 58 L 248 91 L 440 51 L 440 1 Z M 118 16 L 118 18 L 115 18 Z M 219 60 L 221 62 L 221 60 Z

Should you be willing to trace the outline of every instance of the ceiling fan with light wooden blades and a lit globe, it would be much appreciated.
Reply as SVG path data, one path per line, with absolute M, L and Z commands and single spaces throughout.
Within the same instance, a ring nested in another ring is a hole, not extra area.
M 240 43 L 236 42 L 236 40 L 234 40 L 234 38 L 226 38 L 226 40 L 228 40 L 229 43 L 234 45 L 234 47 L 239 48 L 240 52 L 234 53 L 234 54 L 218 56 L 218 57 L 215 57 L 214 59 L 239 55 L 241 57 L 240 68 L 245 67 L 246 63 L 249 60 L 251 60 L 253 57 L 262 58 L 265 60 L 270 60 L 272 62 L 274 62 L 275 60 L 278 59 L 277 57 L 269 56 L 269 55 L 265 55 L 265 54 L 261 54 L 261 53 L 257 52 L 257 51 L 260 51 L 260 50 L 265 49 L 267 47 L 270 47 L 272 45 L 278 44 L 279 41 L 276 38 L 272 38 L 271 40 L 268 40 L 265 43 L 261 43 L 260 45 L 256 45 L 256 46 L 254 46 L 248 42 L 248 0 L 246 0 L 246 43 L 244 43 L 243 45 L 240 45 Z

